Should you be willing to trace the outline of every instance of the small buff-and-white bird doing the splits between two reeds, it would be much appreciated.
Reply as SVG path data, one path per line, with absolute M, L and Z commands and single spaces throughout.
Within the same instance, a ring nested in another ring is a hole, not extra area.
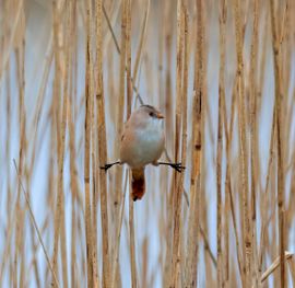
M 141 105 L 127 120 L 120 138 L 120 157 L 101 169 L 107 171 L 116 164 L 128 164 L 131 169 L 131 187 L 133 201 L 141 199 L 145 193 L 144 169 L 148 164 L 169 165 L 182 172 L 181 163 L 158 162 L 165 150 L 163 114 L 151 105 Z

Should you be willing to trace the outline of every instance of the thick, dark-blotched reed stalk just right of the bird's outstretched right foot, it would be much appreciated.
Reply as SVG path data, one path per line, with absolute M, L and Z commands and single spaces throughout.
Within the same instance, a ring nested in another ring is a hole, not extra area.
M 198 250 L 199 250 L 199 194 L 201 193 L 201 159 L 202 159 L 202 125 L 203 115 L 203 70 L 204 70 L 204 20 L 203 1 L 197 0 L 197 35 L 194 55 L 194 94 L 192 108 L 192 155 L 190 177 L 190 206 L 188 224 L 188 244 L 186 262 L 186 285 L 194 287 L 198 283 Z M 192 241 L 193 240 L 193 241 Z

